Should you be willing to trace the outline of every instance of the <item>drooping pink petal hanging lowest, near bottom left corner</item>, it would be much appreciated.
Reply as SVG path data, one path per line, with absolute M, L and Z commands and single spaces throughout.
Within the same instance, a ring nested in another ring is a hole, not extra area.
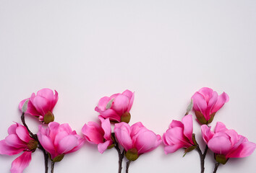
M 22 155 L 17 157 L 17 159 L 12 161 L 12 168 L 10 171 L 12 173 L 22 173 L 23 170 L 30 164 L 31 154 L 32 152 L 25 151 Z

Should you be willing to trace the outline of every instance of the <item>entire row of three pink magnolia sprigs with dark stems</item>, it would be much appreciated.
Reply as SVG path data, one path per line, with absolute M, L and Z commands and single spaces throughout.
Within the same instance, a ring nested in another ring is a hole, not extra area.
M 192 102 L 182 121 L 172 120 L 162 138 L 145 128 L 141 122 L 129 125 L 130 110 L 135 99 L 135 93 L 129 90 L 113 94 L 111 97 L 102 97 L 95 107 L 95 111 L 99 113 L 98 123 L 85 123 L 81 130 L 83 136 L 77 135 L 67 123 L 54 122 L 53 110 L 58 98 L 58 92 L 55 91 L 54 94 L 51 89 L 40 89 L 37 94 L 33 93 L 30 98 L 20 102 L 23 125 L 11 125 L 8 129 L 9 135 L 0 141 L 0 154 L 22 153 L 12 162 L 10 172 L 23 172 L 30 164 L 31 155 L 37 148 L 43 151 L 46 172 L 48 157 L 51 159 L 54 172 L 54 163 L 64 159 L 66 154 L 80 149 L 85 141 L 98 145 L 101 154 L 106 149 L 116 148 L 119 154 L 119 172 L 124 156 L 127 159 L 128 170 L 131 161 L 153 151 L 162 141 L 166 154 L 174 153 L 179 148 L 185 148 L 185 154 L 196 149 L 200 154 L 201 172 L 204 172 L 204 159 L 208 148 L 213 151 L 217 161 L 216 170 L 218 164 L 226 164 L 229 158 L 249 156 L 256 148 L 255 143 L 249 142 L 235 130 L 228 130 L 221 122 L 216 124 L 214 132 L 210 130 L 208 124 L 213 121 L 216 112 L 229 102 L 228 94 L 223 92 L 218 95 L 210 88 L 204 87 L 192 96 Z M 192 109 L 195 111 L 197 122 L 201 125 L 202 138 L 206 144 L 204 152 L 201 151 L 193 133 L 193 117 L 189 114 Z M 38 126 L 37 134 L 29 130 L 24 115 L 33 115 L 42 122 L 42 125 Z M 111 124 L 114 125 L 113 130 Z

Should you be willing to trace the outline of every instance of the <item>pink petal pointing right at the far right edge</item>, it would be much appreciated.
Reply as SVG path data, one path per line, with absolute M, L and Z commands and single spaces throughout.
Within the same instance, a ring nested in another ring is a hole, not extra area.
M 255 151 L 255 148 L 256 148 L 255 143 L 244 142 L 238 148 L 236 148 L 236 150 L 231 151 L 231 153 L 229 153 L 227 155 L 227 157 L 230 157 L 230 158 L 246 157 L 246 156 L 251 155 L 253 153 L 253 151 Z

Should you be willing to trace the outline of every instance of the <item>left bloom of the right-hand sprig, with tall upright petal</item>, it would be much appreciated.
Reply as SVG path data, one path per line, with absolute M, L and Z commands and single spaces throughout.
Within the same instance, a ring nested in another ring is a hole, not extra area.
M 192 140 L 193 120 L 192 115 L 186 115 L 182 122 L 172 120 L 166 133 L 163 133 L 165 154 L 174 153 L 179 148 L 195 146 Z

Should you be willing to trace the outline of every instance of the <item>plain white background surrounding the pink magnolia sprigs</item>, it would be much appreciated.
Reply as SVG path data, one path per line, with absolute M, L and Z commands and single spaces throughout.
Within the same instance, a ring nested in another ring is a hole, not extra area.
M 130 124 L 163 134 L 182 120 L 202 86 L 229 94 L 217 121 L 256 142 L 256 1 L 14 1 L 0 0 L 0 139 L 22 99 L 48 87 L 59 92 L 56 121 L 77 133 L 98 100 L 135 91 Z M 27 117 L 37 131 L 37 121 Z M 199 125 L 194 123 L 197 141 Z M 81 134 L 81 133 L 80 133 Z M 163 145 L 140 156 L 130 172 L 200 172 L 196 151 L 165 155 Z M 0 156 L 9 172 L 16 156 Z M 256 154 L 230 159 L 218 172 L 255 172 Z M 100 154 L 86 143 L 56 164 L 55 172 L 117 172 L 114 149 Z M 205 172 L 213 172 L 209 152 Z M 35 151 L 25 172 L 44 172 Z

